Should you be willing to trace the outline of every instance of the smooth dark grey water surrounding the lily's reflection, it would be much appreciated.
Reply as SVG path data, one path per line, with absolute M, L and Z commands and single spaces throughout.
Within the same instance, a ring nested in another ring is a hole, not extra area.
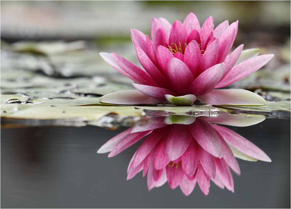
M 112 158 L 96 153 L 124 127 L 1 129 L 1 208 L 290 208 L 290 119 L 228 128 L 272 162 L 237 159 L 235 192 L 211 182 L 207 196 L 198 184 L 185 196 L 167 182 L 149 192 L 141 173 L 126 180 L 141 141 Z

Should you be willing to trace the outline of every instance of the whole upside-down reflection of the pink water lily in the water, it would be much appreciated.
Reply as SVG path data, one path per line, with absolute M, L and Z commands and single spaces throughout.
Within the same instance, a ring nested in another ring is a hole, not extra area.
M 149 134 L 129 163 L 127 179 L 143 170 L 143 176 L 148 172 L 149 190 L 168 181 L 172 189 L 180 185 L 186 195 L 192 192 L 196 182 L 202 192 L 208 194 L 210 179 L 219 187 L 234 191 L 230 168 L 240 175 L 235 157 L 271 161 L 265 152 L 246 138 L 206 121 L 235 125 L 233 115 L 200 118 L 170 116 L 165 119 L 167 124 L 132 127 L 110 139 L 98 153 L 111 151 L 108 157 L 113 157 Z M 157 120 L 161 119 L 164 120 Z M 237 126 L 255 124 L 264 119 L 264 116 L 258 116 L 251 122 L 239 120 Z

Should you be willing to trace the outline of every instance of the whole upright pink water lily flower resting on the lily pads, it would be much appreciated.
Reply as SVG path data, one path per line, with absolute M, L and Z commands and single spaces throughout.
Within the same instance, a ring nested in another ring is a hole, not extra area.
M 265 105 L 260 96 L 228 86 L 267 64 L 274 55 L 243 45 L 228 53 L 237 35 L 238 21 L 224 21 L 214 29 L 209 17 L 203 26 L 193 13 L 173 26 L 164 18 L 152 19 L 151 37 L 131 30 L 139 62 L 145 70 L 116 53 L 102 52 L 103 59 L 132 79 L 138 90 L 113 92 L 100 101 L 115 104 L 159 103 L 190 105 L 196 99 L 213 105 Z M 214 89 L 214 90 L 213 90 Z

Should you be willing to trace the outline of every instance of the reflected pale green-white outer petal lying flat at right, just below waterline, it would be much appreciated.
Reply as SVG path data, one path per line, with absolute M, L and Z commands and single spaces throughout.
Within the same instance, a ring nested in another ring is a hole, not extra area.
M 251 114 L 230 114 L 222 113 L 217 117 L 200 116 L 199 118 L 214 124 L 223 124 L 229 126 L 245 127 L 258 124 L 266 119 L 265 115 Z

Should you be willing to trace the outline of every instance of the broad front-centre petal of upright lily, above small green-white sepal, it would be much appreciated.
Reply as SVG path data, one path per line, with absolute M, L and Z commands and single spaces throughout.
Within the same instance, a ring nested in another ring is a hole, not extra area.
M 187 65 L 175 57 L 167 64 L 167 80 L 174 92 L 180 96 L 189 94 L 190 85 L 194 81 Z

